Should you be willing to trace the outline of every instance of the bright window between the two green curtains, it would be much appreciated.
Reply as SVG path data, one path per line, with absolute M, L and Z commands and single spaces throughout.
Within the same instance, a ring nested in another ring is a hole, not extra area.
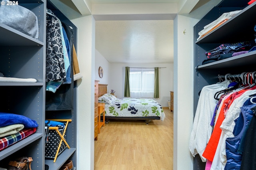
M 154 97 L 154 68 L 130 68 L 132 98 Z

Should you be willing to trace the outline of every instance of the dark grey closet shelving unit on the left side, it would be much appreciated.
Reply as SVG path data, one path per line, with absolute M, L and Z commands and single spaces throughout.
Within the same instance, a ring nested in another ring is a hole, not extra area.
M 74 109 L 51 112 L 45 109 L 46 99 L 46 8 L 56 12 L 60 20 L 74 29 L 76 47 L 76 27 L 47 0 L 19 0 L 20 6 L 28 8 L 38 17 L 38 40 L 0 23 L 0 72 L 6 77 L 34 78 L 36 83 L 0 82 L 0 111 L 24 115 L 38 123 L 36 132 L 27 138 L 0 151 L 0 167 L 19 156 L 33 158 L 34 170 L 44 170 L 48 164 L 50 170 L 58 170 L 66 160 L 73 160 L 76 166 L 76 82 L 74 83 Z M 50 116 L 49 116 L 50 115 Z M 72 119 L 68 125 L 67 142 L 70 149 L 65 149 L 55 163 L 44 157 L 45 118 Z M 74 168 L 76 169 L 76 168 Z

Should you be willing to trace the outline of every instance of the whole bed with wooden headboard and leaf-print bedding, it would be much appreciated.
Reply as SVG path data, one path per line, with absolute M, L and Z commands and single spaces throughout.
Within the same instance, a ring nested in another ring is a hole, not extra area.
M 99 103 L 105 103 L 105 120 L 150 120 L 164 121 L 162 106 L 154 99 L 116 98 L 107 93 L 107 85 L 99 84 Z

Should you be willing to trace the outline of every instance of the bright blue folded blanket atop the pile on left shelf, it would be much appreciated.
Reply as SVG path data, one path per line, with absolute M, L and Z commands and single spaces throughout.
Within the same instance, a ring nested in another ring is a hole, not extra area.
M 0 127 L 23 124 L 25 128 L 36 128 L 38 124 L 36 121 L 29 119 L 23 115 L 16 115 L 14 113 L 2 113 L 0 112 Z

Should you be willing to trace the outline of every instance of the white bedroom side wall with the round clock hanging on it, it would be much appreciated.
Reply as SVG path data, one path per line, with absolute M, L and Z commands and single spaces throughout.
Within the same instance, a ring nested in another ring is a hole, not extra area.
M 99 67 L 103 69 L 103 77 L 99 76 Z M 95 79 L 99 80 L 99 84 L 110 85 L 110 63 L 104 58 L 98 50 L 95 50 Z

